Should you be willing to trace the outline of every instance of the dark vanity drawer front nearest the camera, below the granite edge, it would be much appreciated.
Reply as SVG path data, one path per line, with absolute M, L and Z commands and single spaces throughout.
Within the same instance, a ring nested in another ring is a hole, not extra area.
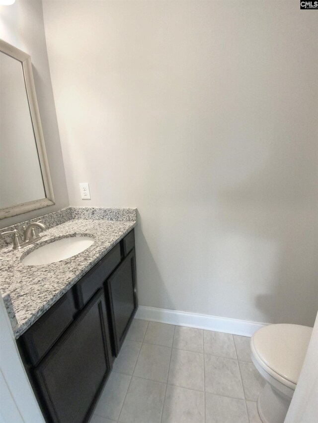
M 32 364 L 38 363 L 44 357 L 72 323 L 75 311 L 72 293 L 68 291 L 21 335 Z

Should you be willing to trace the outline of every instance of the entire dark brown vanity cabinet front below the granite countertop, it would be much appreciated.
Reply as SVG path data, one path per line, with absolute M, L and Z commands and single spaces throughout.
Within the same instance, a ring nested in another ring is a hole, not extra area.
M 17 341 L 47 422 L 88 422 L 136 310 L 132 230 Z

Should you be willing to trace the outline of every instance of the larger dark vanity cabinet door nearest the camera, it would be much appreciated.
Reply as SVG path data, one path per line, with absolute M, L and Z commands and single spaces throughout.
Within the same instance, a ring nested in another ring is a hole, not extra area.
M 103 387 L 110 364 L 103 290 L 99 290 L 55 347 L 34 369 L 49 421 L 81 423 Z

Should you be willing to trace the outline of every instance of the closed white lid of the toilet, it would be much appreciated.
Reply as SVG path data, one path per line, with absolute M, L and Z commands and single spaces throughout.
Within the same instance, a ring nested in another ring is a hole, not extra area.
M 254 357 L 263 368 L 268 366 L 272 370 L 273 377 L 275 373 L 280 376 L 276 379 L 283 378 L 297 384 L 312 330 L 308 326 L 293 324 L 264 326 L 251 338 Z

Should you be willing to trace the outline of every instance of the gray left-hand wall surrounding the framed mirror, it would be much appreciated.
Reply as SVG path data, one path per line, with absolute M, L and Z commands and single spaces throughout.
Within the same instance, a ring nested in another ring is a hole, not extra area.
M 0 38 L 31 56 L 55 196 L 54 206 L 1 220 L 0 228 L 5 228 L 66 207 L 69 198 L 46 50 L 42 2 L 17 0 L 11 6 L 0 6 Z M 10 163 L 12 173 L 15 166 L 16 163 Z M 32 166 L 29 172 L 32 173 Z

